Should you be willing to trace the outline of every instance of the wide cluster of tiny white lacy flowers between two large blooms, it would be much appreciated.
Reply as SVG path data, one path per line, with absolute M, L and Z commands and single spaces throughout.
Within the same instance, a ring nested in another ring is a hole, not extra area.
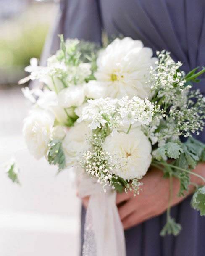
M 95 130 L 108 124 L 110 128 L 129 126 L 131 124 L 148 125 L 152 121 L 155 106 L 146 98 L 142 100 L 128 96 L 118 99 L 100 98 L 88 100 L 89 105 L 82 109 L 78 122 L 87 121 Z

